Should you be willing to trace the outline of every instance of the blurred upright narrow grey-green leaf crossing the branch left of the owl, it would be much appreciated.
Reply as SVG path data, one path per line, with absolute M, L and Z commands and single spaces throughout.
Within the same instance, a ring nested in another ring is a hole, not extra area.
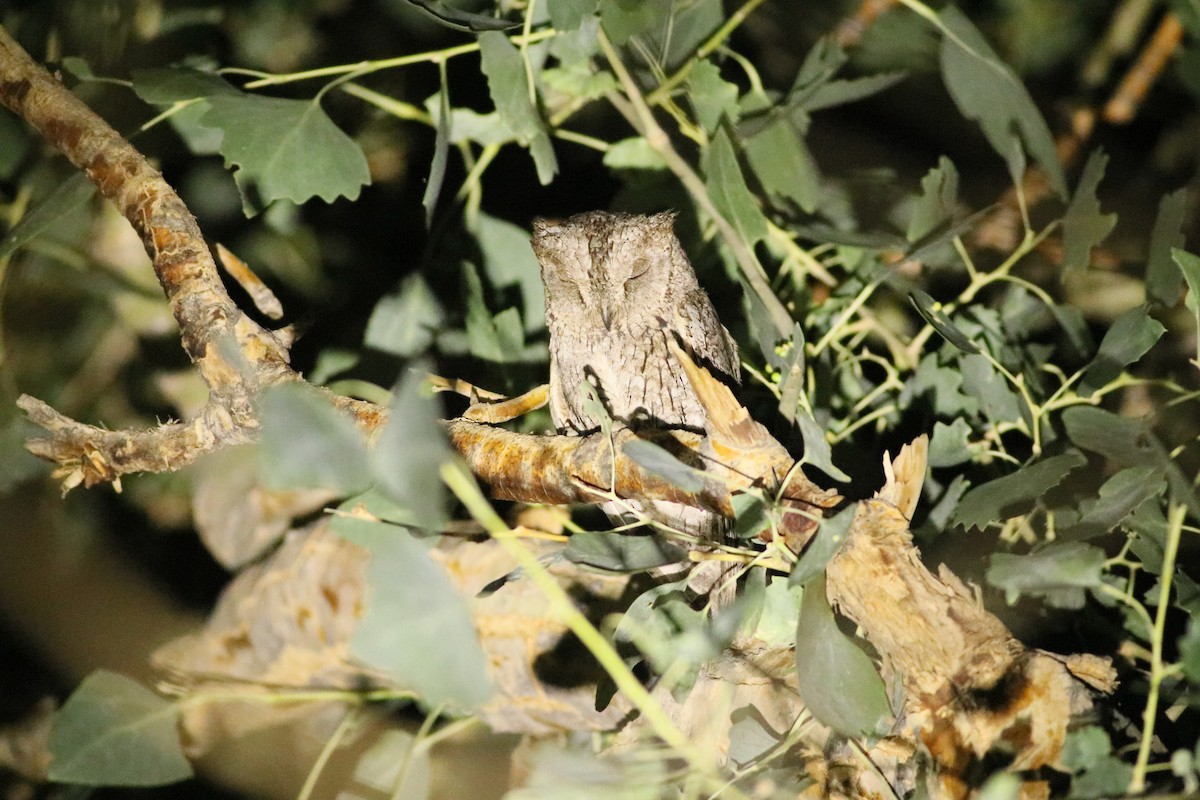
M 425 371 L 409 369 L 392 393 L 388 425 L 370 453 L 376 486 L 428 530 L 440 528 L 448 516 L 439 470 L 450 457 L 450 447 L 439 422 Z

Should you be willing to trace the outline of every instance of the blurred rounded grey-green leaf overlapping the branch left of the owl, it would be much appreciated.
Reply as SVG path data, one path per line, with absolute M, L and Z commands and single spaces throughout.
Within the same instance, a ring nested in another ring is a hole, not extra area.
M 271 386 L 259 408 L 264 486 L 349 494 L 370 482 L 362 433 L 314 389 L 301 383 Z

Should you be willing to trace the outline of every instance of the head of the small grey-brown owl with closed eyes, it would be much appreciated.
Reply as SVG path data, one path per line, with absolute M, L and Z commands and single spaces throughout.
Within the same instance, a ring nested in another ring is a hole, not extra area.
M 563 222 L 534 221 L 547 317 L 571 319 L 583 330 L 599 323 L 610 331 L 661 317 L 679 282 L 695 282 L 674 235 L 674 216 L 589 211 Z

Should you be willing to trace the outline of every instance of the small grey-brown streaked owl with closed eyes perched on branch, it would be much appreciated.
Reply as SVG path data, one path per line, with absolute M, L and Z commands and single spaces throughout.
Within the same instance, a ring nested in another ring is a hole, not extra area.
M 619 422 L 702 431 L 703 409 L 667 349 L 672 333 L 700 363 L 738 380 L 737 345 L 696 282 L 673 225 L 673 212 L 592 211 L 534 222 L 550 327 L 550 414 L 560 433 L 599 426 L 584 408 L 584 380 Z M 704 511 L 673 504 L 655 504 L 655 511 L 688 533 L 720 530 Z

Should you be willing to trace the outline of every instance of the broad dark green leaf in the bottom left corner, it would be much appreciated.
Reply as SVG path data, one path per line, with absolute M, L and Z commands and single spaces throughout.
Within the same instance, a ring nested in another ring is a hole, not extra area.
M 85 786 L 164 786 L 192 777 L 179 706 L 112 672 L 90 674 L 50 727 L 49 778 Z

